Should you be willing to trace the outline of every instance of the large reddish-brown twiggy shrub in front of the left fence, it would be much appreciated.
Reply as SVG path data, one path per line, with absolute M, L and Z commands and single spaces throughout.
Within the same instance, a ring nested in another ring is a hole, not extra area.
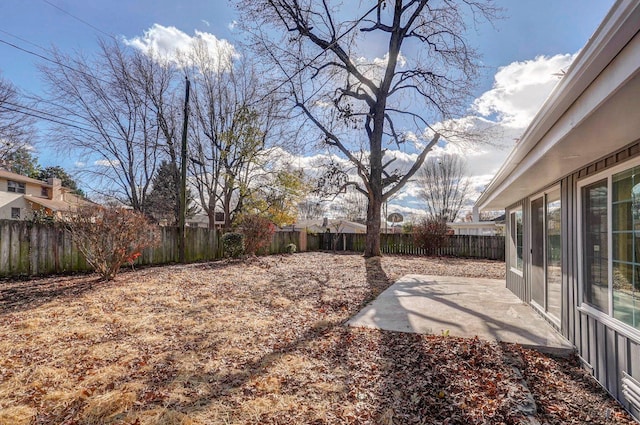
M 133 264 L 142 250 L 159 242 L 156 226 L 143 214 L 123 208 L 82 207 L 64 222 L 87 262 L 105 280 L 115 279 L 122 264 Z

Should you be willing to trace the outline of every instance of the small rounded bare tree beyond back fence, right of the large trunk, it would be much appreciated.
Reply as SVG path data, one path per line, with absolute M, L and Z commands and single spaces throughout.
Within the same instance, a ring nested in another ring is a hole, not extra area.
M 455 221 L 469 195 L 464 159 L 451 154 L 429 158 L 420 168 L 417 182 L 429 217 L 444 222 Z

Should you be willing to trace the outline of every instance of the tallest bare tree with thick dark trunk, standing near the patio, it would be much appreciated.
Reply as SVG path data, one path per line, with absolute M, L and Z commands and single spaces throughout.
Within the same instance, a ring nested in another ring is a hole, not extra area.
M 492 18 L 496 9 L 490 0 L 349 2 L 342 11 L 331 0 L 238 4 L 253 45 L 279 70 L 283 94 L 313 123 L 316 140 L 351 162 L 359 181 L 343 171 L 336 184 L 367 196 L 365 256 L 380 255 L 383 202 L 438 142 L 434 125 L 462 113 L 471 95 L 477 63 L 464 37 L 468 18 Z M 365 57 L 365 46 L 380 45 L 381 57 Z M 416 136 L 424 140 L 415 163 L 393 169 L 383 146 L 405 147 Z

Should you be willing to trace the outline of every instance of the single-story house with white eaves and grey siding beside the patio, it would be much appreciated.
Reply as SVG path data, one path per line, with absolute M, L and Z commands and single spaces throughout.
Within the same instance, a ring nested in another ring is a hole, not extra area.
M 640 2 L 618 0 L 478 199 L 507 287 L 640 419 Z

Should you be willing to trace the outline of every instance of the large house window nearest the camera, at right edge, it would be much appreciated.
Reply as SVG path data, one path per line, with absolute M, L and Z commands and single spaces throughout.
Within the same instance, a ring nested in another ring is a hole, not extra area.
M 640 166 L 589 179 L 580 196 L 583 303 L 640 330 Z

